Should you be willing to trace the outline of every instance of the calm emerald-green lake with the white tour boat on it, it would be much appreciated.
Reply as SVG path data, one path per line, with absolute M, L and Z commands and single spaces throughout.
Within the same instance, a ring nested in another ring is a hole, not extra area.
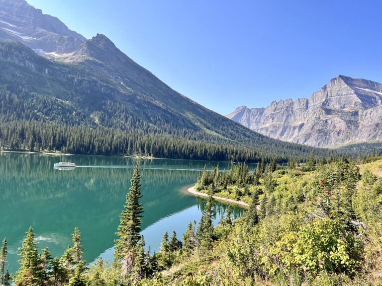
M 74 162 L 74 170 L 54 170 L 59 161 Z M 142 234 L 146 248 L 158 251 L 165 231 L 182 238 L 190 221 L 198 221 L 205 200 L 182 189 L 196 182 L 204 165 L 217 162 L 173 159 L 141 160 L 141 191 L 144 207 Z M 84 259 L 102 256 L 112 260 L 119 215 L 130 187 L 134 158 L 102 156 L 53 156 L 0 153 L 0 239 L 7 238 L 9 271 L 19 265 L 17 248 L 29 226 L 34 228 L 38 247 L 48 246 L 61 256 L 71 244 L 73 229 L 81 231 Z M 219 162 L 229 169 L 229 162 Z M 227 206 L 216 203 L 217 215 Z M 238 217 L 243 210 L 233 208 Z

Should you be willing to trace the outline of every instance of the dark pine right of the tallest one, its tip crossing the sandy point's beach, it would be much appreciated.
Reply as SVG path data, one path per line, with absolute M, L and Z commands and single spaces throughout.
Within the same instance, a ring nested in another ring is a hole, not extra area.
M 210 248 L 213 236 L 213 217 L 215 216 L 215 206 L 212 195 L 208 195 L 207 203 L 201 215 L 199 225 L 196 230 L 196 239 L 200 246 Z

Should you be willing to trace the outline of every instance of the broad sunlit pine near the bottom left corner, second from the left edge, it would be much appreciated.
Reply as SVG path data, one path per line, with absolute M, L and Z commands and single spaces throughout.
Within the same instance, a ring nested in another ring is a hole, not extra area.
M 32 227 L 29 227 L 24 238 L 21 247 L 18 248 L 21 266 L 16 272 L 14 284 L 15 286 L 41 286 L 44 284 L 45 273 L 34 241 Z

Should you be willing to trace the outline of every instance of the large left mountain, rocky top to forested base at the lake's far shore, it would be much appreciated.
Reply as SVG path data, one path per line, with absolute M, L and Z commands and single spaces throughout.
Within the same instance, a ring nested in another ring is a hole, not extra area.
M 0 0 L 0 66 L 1 148 L 252 161 L 330 152 L 208 110 L 106 36 L 86 40 L 24 0 Z

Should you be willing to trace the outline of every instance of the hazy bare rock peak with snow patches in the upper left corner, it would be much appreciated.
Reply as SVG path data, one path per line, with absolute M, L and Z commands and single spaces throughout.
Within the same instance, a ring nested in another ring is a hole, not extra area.
M 21 42 L 45 54 L 73 52 L 85 38 L 25 0 L 0 0 L 0 40 Z

